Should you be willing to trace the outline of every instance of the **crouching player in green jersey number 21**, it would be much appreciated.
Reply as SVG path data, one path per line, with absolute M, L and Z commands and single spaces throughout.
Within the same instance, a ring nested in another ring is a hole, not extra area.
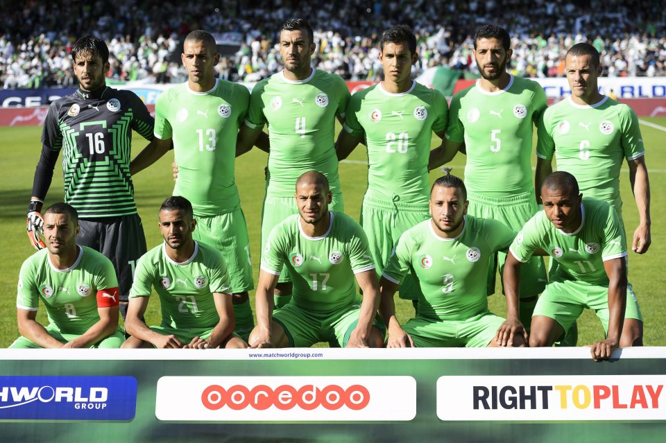
M 244 348 L 233 334 L 234 312 L 229 275 L 221 252 L 192 238 L 196 220 L 191 203 L 169 197 L 160 208 L 164 243 L 137 263 L 130 290 L 123 348 Z M 148 327 L 140 319 L 154 287 L 162 304 L 162 324 Z

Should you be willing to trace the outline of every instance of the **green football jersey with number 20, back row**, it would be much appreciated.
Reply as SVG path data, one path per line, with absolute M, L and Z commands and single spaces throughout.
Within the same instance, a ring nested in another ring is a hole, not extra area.
M 448 105 L 437 89 L 413 82 L 402 94 L 381 83 L 354 94 L 343 128 L 364 135 L 368 147 L 368 193 L 427 205 L 432 131 L 446 129 Z

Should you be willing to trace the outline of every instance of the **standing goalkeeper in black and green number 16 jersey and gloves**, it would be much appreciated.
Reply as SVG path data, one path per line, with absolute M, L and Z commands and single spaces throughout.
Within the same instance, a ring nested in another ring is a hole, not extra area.
M 112 261 L 124 318 L 136 261 L 146 252 L 130 175 L 132 130 L 152 140 L 154 121 L 136 94 L 106 86 L 109 49 L 103 40 L 81 38 L 72 46 L 71 58 L 79 86 L 74 94 L 51 103 L 46 114 L 42 156 L 28 205 L 28 236 L 37 249 L 44 247 L 40 211 L 63 150 L 65 202 L 79 217 L 76 243 Z

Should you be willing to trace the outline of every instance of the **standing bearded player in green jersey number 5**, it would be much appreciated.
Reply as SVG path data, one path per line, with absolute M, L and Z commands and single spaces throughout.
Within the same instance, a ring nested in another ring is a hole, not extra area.
M 481 79 L 453 96 L 447 143 L 432 151 L 429 168 L 465 150 L 469 214 L 498 220 L 518 232 L 538 210 L 530 159 L 533 125 L 540 124 L 546 96 L 537 82 L 506 72 L 511 54 L 506 30 L 490 24 L 479 28 L 474 56 Z M 505 259 L 506 253 L 499 252 L 497 263 L 491 263 L 488 294 L 495 292 L 496 267 L 499 264 L 502 272 Z M 523 324 L 529 324 L 545 283 L 543 259 L 534 257 L 524 266 L 520 281 Z

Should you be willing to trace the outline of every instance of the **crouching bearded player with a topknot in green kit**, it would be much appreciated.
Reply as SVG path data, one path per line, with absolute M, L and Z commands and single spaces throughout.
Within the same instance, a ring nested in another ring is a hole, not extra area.
M 514 233 L 496 220 L 467 214 L 465 184 L 454 175 L 438 178 L 430 191 L 432 218 L 404 232 L 380 281 L 379 314 L 388 325 L 387 347 L 522 347 L 527 336 L 516 329 L 497 339 L 504 319 L 488 311 L 486 279 L 490 257 L 506 250 Z M 400 327 L 393 295 L 413 270 L 422 295 L 416 318 Z M 509 305 L 509 324 L 518 308 Z

